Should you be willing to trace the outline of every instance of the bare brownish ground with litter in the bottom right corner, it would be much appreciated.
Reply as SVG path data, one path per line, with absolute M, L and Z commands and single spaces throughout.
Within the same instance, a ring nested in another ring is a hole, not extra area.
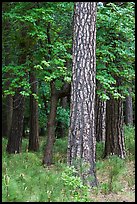
M 91 198 L 95 202 L 135 202 L 135 162 L 126 162 L 126 172 L 119 178 L 121 189 L 117 192 L 93 192 Z M 97 171 L 100 183 L 108 182 L 108 174 Z

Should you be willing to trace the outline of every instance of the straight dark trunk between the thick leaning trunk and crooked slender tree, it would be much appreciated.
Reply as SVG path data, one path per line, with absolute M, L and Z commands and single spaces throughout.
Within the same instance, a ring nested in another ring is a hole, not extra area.
M 33 70 L 30 71 L 30 132 L 29 132 L 29 151 L 38 151 L 39 149 L 39 124 L 38 124 L 38 102 L 33 96 L 37 94 L 37 79 Z

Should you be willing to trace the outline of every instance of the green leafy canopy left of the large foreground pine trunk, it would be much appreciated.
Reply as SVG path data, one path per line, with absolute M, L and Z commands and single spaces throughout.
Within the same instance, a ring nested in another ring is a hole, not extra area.
M 64 12 L 63 18 L 62 12 Z M 66 63 L 69 65 L 72 59 L 72 29 L 70 29 L 72 16 L 73 2 L 3 3 L 4 95 L 14 95 L 16 88 L 22 87 L 21 94 L 29 96 L 31 93 L 28 81 L 30 67 L 34 67 L 36 78 L 43 82 L 44 86 L 48 86 L 52 80 L 57 80 L 56 88 L 60 89 L 64 81 L 70 82 L 70 66 L 66 68 Z M 23 36 L 22 32 L 24 32 Z M 8 36 L 6 40 L 5 36 Z M 26 44 L 27 46 L 23 48 L 22 45 Z M 21 55 L 26 55 L 25 66 L 19 64 Z M 10 75 L 7 76 L 7 73 Z M 7 89 L 6 83 L 9 81 Z

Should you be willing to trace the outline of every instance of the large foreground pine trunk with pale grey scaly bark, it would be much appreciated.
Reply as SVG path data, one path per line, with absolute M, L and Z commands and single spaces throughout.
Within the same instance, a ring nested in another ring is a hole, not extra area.
M 73 37 L 67 160 L 78 169 L 83 181 L 95 186 L 96 2 L 76 2 Z

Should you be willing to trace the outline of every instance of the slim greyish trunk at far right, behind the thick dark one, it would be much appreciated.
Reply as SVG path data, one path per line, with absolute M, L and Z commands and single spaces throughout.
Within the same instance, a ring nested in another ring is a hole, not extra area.
M 131 89 L 129 89 L 129 96 L 126 97 L 126 101 L 125 101 L 125 123 L 126 125 L 133 125 Z

